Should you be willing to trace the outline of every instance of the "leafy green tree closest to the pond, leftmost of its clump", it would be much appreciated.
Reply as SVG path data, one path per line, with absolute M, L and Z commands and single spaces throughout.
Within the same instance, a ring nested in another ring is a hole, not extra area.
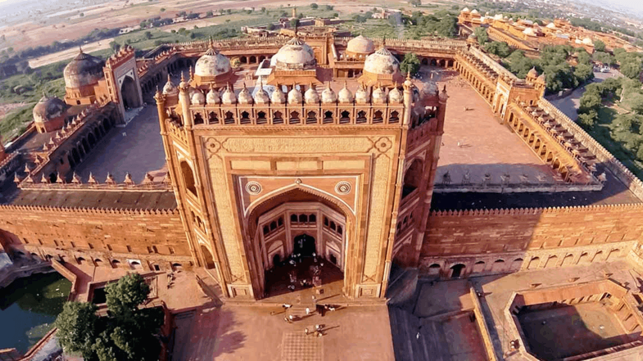
M 86 360 L 90 359 L 96 336 L 97 309 L 92 303 L 68 302 L 62 306 L 54 327 L 58 329 L 56 337 L 65 351 L 79 352 Z

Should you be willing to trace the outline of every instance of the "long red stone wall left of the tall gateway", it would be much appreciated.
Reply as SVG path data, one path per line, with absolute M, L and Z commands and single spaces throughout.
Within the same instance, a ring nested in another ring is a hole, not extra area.
M 190 257 L 177 211 L 83 211 L 5 206 L 0 207 L 0 243 L 15 250 L 53 257 L 83 253 L 95 257 L 98 254 L 102 258 L 112 258 L 115 254 L 120 258 L 165 257 L 168 261 Z M 91 257 L 84 258 L 91 260 Z

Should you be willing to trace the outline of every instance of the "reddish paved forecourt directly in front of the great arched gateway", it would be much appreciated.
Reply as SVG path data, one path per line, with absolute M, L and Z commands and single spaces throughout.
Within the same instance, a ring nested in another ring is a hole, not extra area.
M 176 317 L 172 361 L 394 360 L 386 306 L 351 306 L 293 323 L 281 307 L 203 306 Z M 323 336 L 305 328 L 323 325 Z

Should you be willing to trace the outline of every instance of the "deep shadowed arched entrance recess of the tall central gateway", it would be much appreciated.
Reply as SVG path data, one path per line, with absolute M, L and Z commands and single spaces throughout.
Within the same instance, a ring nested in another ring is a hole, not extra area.
M 254 239 L 246 252 L 257 255 L 256 269 L 263 270 L 256 277 L 256 298 L 313 286 L 345 287 L 351 213 L 313 192 L 293 188 L 251 207 L 246 227 Z

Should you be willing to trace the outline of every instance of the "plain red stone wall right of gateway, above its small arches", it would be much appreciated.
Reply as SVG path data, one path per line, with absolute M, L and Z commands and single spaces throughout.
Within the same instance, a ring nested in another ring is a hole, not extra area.
M 643 205 L 431 213 L 421 257 L 639 240 Z

